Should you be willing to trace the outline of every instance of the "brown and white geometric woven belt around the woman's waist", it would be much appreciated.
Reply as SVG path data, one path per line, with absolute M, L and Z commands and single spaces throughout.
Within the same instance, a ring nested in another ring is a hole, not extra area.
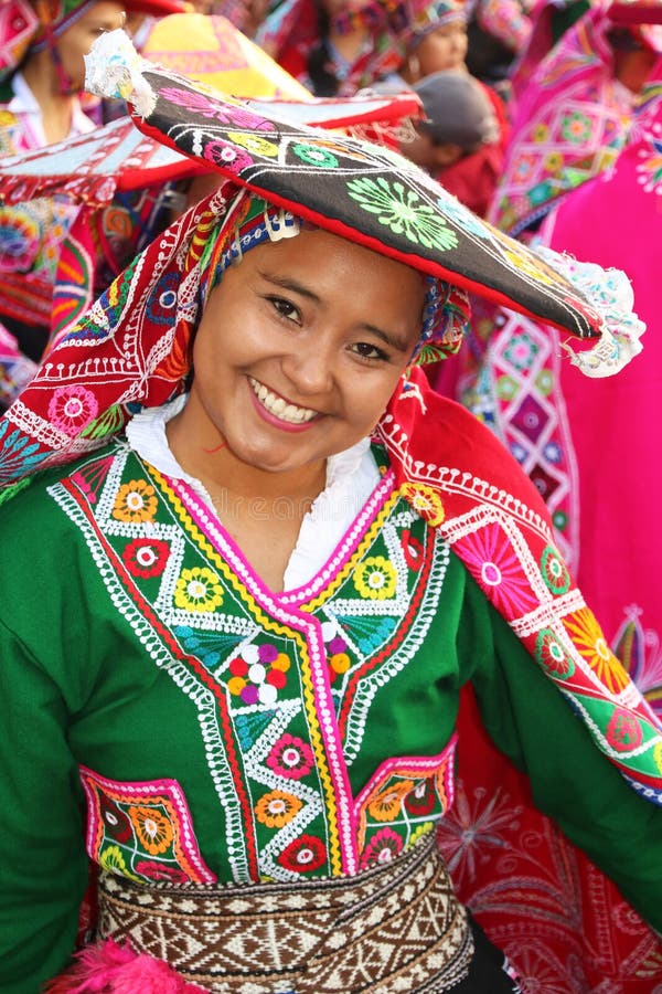
M 213 994 L 439 994 L 473 954 L 431 839 L 357 877 L 145 887 L 102 874 L 99 913 L 99 938 Z

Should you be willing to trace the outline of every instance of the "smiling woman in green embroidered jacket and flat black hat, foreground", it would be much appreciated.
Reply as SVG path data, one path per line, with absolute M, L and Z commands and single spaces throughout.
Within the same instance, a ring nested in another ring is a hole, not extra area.
M 0 421 L 3 990 L 519 991 L 435 844 L 468 683 L 660 928 L 662 729 L 533 485 L 415 369 L 458 347 L 471 288 L 613 370 L 627 286 L 597 310 L 583 267 L 392 151 L 104 41 L 136 121 L 225 182 Z

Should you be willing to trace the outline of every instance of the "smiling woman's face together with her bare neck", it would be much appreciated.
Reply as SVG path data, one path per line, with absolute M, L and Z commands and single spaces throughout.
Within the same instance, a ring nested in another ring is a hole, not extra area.
M 242 233 L 256 214 L 259 223 L 254 204 Z M 372 433 L 408 366 L 426 293 L 403 263 L 329 232 L 288 233 L 252 248 L 213 289 L 223 266 L 210 266 L 189 400 L 167 430 L 273 590 L 324 489 L 327 459 Z M 259 519 L 245 499 L 255 495 L 268 511 Z M 291 514 L 278 517 L 284 496 Z

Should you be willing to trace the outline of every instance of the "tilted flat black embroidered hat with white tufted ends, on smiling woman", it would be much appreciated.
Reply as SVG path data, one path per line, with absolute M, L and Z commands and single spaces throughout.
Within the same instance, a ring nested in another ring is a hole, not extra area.
M 612 299 L 604 272 L 535 253 L 465 208 L 434 179 L 383 146 L 322 135 L 293 118 L 256 114 L 140 59 L 124 32 L 95 42 L 87 86 L 129 101 L 134 123 L 321 229 L 414 266 L 578 338 L 602 341 L 578 364 L 616 372 L 641 346 L 634 316 Z M 627 281 L 626 281 L 627 283 Z M 628 285 L 629 288 L 629 285 Z M 616 292 L 623 297 L 622 282 Z M 624 288 L 624 307 L 631 307 Z

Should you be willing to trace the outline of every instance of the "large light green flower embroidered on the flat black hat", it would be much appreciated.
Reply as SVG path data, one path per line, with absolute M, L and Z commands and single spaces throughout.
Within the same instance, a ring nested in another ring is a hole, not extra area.
M 446 225 L 444 218 L 424 203 L 415 190 L 403 183 L 388 183 L 383 177 L 376 180 L 363 178 L 348 183 L 348 193 L 371 214 L 377 214 L 380 224 L 394 234 L 404 234 L 415 244 L 446 252 L 457 248 L 458 236 Z

